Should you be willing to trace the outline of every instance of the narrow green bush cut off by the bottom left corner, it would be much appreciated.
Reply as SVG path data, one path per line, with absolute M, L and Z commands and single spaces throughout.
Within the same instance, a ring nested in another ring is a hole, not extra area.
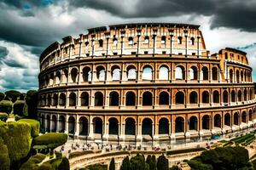
M 3 144 L 3 139 L 0 138 L 0 169 L 8 170 L 10 166 L 9 153 L 6 144 Z

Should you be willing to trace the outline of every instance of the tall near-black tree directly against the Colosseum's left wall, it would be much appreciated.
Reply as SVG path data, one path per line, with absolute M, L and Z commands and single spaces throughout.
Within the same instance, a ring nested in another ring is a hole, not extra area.
M 25 100 L 28 117 L 36 119 L 38 117 L 38 91 L 27 91 Z

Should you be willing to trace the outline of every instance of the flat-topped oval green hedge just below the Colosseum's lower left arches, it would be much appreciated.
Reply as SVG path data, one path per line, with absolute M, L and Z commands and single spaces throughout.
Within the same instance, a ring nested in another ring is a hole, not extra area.
M 54 149 L 67 142 L 66 133 L 46 133 L 33 139 L 35 149 Z M 43 147 L 43 148 L 41 148 Z

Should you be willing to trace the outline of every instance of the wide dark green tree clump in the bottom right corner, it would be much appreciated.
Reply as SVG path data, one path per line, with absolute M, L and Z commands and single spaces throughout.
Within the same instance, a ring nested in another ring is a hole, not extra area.
M 224 147 L 204 151 L 201 156 L 188 161 L 192 169 L 212 166 L 214 170 L 250 168 L 248 151 L 242 147 Z M 207 165 L 208 164 L 208 165 Z M 210 166 L 209 166 L 210 165 Z

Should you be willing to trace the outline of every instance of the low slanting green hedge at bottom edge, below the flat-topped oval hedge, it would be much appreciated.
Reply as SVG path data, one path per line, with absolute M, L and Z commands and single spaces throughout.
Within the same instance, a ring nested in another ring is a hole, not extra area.
M 20 170 L 38 169 L 38 163 L 44 160 L 46 156 L 38 153 L 35 156 L 31 156 L 21 167 Z

